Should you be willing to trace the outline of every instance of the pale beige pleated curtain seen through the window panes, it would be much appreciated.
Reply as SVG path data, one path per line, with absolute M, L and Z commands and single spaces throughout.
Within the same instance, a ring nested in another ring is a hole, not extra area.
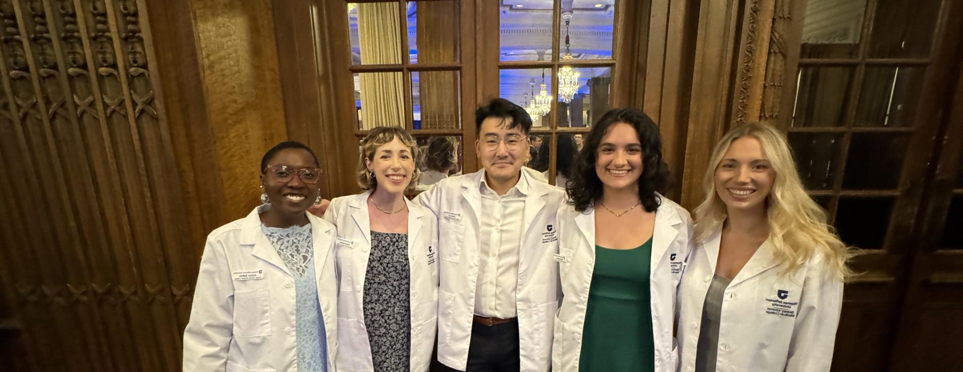
M 362 64 L 402 62 L 398 3 L 358 4 L 358 37 Z M 361 129 L 404 125 L 401 72 L 359 74 Z

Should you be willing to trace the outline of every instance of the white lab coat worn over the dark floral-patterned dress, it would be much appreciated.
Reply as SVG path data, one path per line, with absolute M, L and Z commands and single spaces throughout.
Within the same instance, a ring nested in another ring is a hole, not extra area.
M 331 201 L 325 220 L 338 226 L 335 257 L 338 272 L 339 371 L 372 371 L 371 345 L 364 323 L 364 283 L 371 252 L 368 196 L 371 191 Z M 409 304 L 412 372 L 428 370 L 437 330 L 438 219 L 431 211 L 408 205 Z

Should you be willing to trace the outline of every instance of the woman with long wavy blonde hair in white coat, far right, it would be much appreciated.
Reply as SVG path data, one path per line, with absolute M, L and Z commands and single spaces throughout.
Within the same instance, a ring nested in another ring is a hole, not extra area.
M 786 137 L 722 137 L 695 209 L 679 300 L 682 371 L 828 371 L 847 248 L 806 194 Z

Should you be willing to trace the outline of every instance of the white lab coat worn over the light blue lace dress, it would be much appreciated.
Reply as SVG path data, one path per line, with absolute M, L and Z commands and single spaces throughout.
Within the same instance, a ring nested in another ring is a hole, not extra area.
M 207 236 L 191 320 L 184 330 L 184 371 L 294 371 L 298 344 L 295 284 L 261 232 L 259 211 Z M 315 281 L 325 322 L 327 367 L 337 356 L 334 226 L 307 213 Z

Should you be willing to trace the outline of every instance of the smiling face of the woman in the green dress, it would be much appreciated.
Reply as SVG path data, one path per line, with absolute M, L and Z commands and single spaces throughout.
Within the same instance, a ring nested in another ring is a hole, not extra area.
M 642 144 L 632 125 L 615 123 L 609 127 L 595 150 L 595 174 L 606 187 L 638 189 L 642 175 Z

